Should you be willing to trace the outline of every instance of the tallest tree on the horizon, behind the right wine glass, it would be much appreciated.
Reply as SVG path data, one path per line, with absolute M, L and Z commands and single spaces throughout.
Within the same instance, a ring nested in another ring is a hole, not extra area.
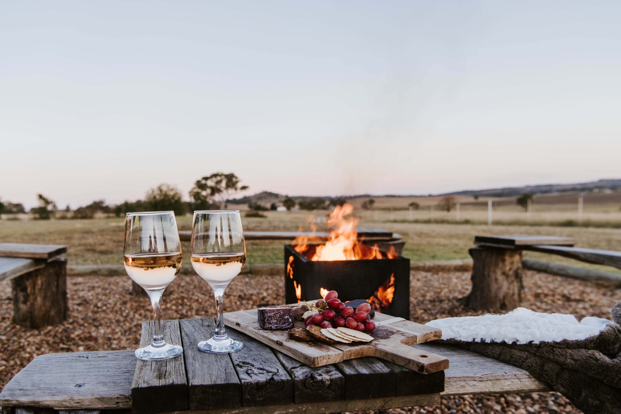
M 194 209 L 209 209 L 205 206 L 211 205 L 212 201 L 216 202 L 220 209 L 224 209 L 227 200 L 233 194 L 248 189 L 248 186 L 240 186 L 239 182 L 240 179 L 233 173 L 214 173 L 199 179 L 194 182 L 194 187 L 189 193 Z

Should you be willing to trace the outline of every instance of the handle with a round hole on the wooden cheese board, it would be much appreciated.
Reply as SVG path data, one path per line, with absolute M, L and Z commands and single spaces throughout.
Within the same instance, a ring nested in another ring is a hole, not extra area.
M 431 374 L 448 368 L 448 359 L 445 357 L 400 342 L 377 344 L 375 356 L 421 374 Z

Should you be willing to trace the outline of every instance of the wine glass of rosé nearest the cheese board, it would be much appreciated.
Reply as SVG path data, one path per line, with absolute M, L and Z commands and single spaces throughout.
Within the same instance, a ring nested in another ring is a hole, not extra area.
M 246 264 L 242 219 L 239 210 L 199 210 L 192 224 L 194 271 L 201 276 L 215 295 L 215 335 L 198 343 L 198 349 L 209 353 L 239 351 L 243 343 L 229 338 L 224 328 L 224 290 Z

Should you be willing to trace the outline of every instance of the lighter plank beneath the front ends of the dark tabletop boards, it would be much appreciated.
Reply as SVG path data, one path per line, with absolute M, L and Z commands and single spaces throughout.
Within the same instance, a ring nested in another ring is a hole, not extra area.
M 321 401 L 268 407 L 239 407 L 211 411 L 180 411 L 162 414 L 324 414 L 417 407 L 440 403 L 440 394 L 407 395 L 406 397 L 366 398 L 364 400 Z

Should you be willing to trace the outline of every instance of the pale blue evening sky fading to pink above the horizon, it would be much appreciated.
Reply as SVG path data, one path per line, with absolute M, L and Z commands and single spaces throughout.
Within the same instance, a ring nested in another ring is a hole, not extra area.
M 618 1 L 20 1 L 0 198 L 438 194 L 621 178 Z

